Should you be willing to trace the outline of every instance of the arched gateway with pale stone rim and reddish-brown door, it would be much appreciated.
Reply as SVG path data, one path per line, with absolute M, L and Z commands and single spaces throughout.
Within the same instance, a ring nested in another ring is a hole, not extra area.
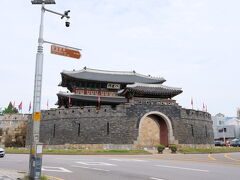
M 155 147 L 158 144 L 168 146 L 172 143 L 174 143 L 172 123 L 165 114 L 154 111 L 141 118 L 137 138 L 138 145 Z

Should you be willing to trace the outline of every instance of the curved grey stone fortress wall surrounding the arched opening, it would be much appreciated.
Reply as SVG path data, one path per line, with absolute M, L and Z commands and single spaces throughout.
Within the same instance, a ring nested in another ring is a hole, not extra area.
M 124 105 L 102 105 L 100 109 L 85 106 L 42 111 L 40 142 L 49 148 L 141 148 L 137 142 L 140 120 L 151 112 L 160 112 L 171 121 L 171 143 L 213 145 L 209 113 L 183 109 L 175 100 L 150 98 L 134 98 Z

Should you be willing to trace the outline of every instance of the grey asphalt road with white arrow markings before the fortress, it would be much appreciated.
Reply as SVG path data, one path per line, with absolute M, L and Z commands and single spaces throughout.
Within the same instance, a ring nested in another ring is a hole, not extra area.
M 29 155 L 7 154 L 0 168 L 28 170 Z M 236 180 L 240 153 L 44 155 L 42 173 L 56 180 Z

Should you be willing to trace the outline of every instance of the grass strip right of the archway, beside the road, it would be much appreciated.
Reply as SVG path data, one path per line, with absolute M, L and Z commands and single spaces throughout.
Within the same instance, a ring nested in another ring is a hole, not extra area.
M 179 149 L 180 153 L 226 153 L 226 152 L 240 152 L 240 147 L 222 147 L 222 148 L 212 148 L 212 149 L 191 149 L 183 148 Z

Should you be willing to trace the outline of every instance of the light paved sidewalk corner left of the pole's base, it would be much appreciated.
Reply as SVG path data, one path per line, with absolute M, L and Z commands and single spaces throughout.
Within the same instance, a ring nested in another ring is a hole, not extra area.
M 25 172 L 0 169 L 0 180 L 22 180 Z

